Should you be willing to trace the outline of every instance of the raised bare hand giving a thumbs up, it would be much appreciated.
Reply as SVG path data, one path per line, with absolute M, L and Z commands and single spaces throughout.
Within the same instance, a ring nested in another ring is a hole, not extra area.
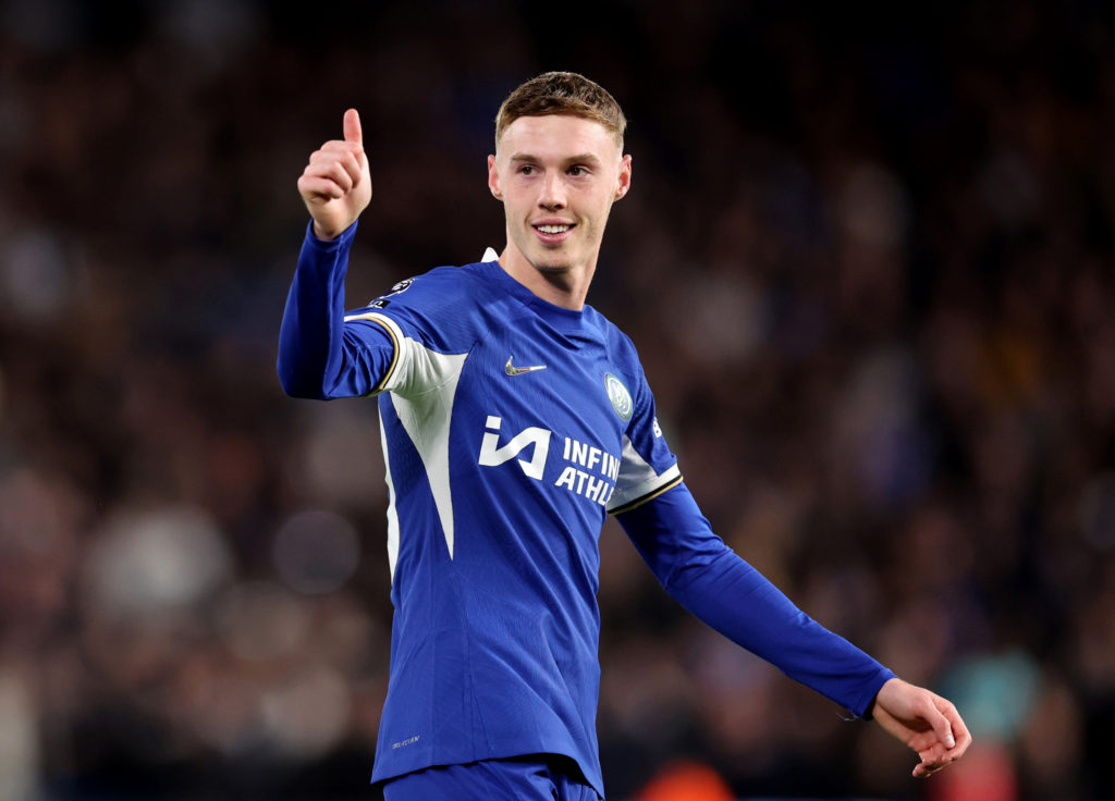
M 331 139 L 310 154 L 298 191 L 313 217 L 319 240 L 336 240 L 371 202 L 371 172 L 363 152 L 360 114 L 345 113 L 345 139 Z

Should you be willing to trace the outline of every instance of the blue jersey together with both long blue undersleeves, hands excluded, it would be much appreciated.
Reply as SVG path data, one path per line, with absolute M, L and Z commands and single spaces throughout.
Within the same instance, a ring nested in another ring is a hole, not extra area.
M 374 781 L 554 753 L 603 797 L 597 590 L 609 511 L 709 625 L 866 712 L 893 674 L 712 534 L 624 334 L 591 306 L 536 297 L 494 261 L 437 267 L 346 313 L 355 231 L 328 243 L 308 232 L 279 374 L 295 395 L 378 395 L 395 617 Z

